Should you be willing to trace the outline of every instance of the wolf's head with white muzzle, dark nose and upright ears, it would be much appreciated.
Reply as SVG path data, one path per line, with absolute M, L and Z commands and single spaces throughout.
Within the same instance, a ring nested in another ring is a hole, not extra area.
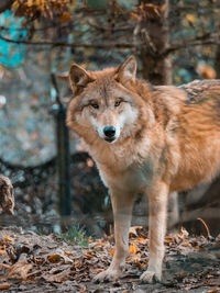
M 136 60 L 131 56 L 118 68 L 87 71 L 74 64 L 69 79 L 74 92 L 67 124 L 79 135 L 97 134 L 108 143 L 129 136 L 139 116 L 139 97 L 132 91 Z

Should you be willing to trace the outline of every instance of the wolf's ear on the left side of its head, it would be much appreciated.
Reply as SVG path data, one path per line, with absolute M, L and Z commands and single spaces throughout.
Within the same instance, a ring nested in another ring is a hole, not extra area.
M 82 88 L 94 81 L 89 74 L 77 64 L 73 64 L 69 69 L 69 80 L 75 94 L 78 94 Z

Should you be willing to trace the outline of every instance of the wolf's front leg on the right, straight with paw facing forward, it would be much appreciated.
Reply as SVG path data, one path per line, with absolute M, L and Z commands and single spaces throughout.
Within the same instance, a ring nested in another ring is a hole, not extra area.
M 147 270 L 141 275 L 146 283 L 161 281 L 166 233 L 168 185 L 160 182 L 148 193 L 150 209 L 150 260 Z

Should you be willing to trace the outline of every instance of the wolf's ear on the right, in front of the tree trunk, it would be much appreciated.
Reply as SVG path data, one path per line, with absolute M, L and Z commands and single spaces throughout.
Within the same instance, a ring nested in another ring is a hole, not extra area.
M 134 56 L 129 57 L 117 70 L 117 80 L 125 82 L 127 80 L 135 80 L 136 77 L 136 59 Z

